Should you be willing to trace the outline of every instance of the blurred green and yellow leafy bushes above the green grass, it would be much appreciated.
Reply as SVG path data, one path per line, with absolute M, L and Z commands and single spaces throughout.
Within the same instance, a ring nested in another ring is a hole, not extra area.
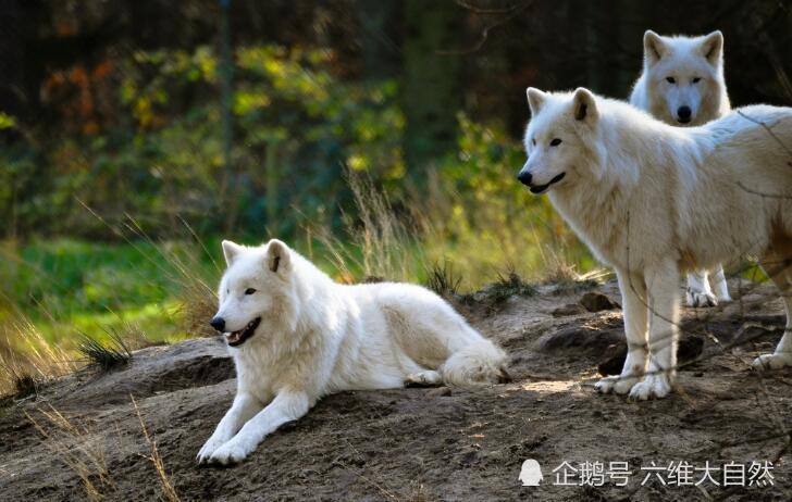
M 42 125 L 0 152 L 0 230 L 116 238 L 86 206 L 113 223 L 134 215 L 152 236 L 183 235 L 182 218 L 201 235 L 294 234 L 293 206 L 338 225 L 339 205 L 352 205 L 345 165 L 400 186 L 405 124 L 395 81 L 345 81 L 333 58 L 238 48 L 225 165 L 214 50 L 131 53 L 114 63 L 117 104 L 106 124 L 71 135 Z

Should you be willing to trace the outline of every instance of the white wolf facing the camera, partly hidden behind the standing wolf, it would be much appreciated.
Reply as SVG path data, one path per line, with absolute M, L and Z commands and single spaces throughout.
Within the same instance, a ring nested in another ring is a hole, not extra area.
M 723 77 L 723 35 L 661 37 L 644 34 L 644 67 L 630 104 L 677 126 L 697 126 L 731 111 Z M 710 283 L 711 280 L 711 288 Z M 713 294 L 715 290 L 715 294 Z M 723 267 L 688 274 L 688 304 L 715 306 L 731 301 Z

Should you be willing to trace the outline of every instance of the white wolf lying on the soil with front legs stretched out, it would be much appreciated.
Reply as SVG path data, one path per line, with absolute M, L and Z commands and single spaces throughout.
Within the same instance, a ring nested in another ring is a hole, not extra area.
M 332 392 L 505 376 L 503 350 L 424 288 L 339 285 L 279 240 L 223 241 L 223 252 L 228 268 L 211 324 L 234 356 L 237 393 L 200 463 L 242 461 Z

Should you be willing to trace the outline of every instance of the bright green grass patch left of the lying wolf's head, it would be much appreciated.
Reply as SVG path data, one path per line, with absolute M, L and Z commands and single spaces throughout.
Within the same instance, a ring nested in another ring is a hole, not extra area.
M 197 249 L 146 241 L 5 243 L 0 321 L 24 316 L 50 343 L 73 344 L 78 334 L 108 340 L 109 332 L 133 328 L 150 342 L 184 338 L 188 334 L 178 332 L 184 263 L 194 279 L 213 285 L 220 275 L 212 262 L 218 256 L 201 256 Z

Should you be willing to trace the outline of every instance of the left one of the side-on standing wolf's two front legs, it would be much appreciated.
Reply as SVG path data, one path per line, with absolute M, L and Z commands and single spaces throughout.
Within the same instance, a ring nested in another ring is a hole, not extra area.
M 627 360 L 621 375 L 603 378 L 594 388 L 602 393 L 626 394 L 646 371 L 646 285 L 643 276 L 636 274 L 617 271 L 616 275 L 624 304 Z

